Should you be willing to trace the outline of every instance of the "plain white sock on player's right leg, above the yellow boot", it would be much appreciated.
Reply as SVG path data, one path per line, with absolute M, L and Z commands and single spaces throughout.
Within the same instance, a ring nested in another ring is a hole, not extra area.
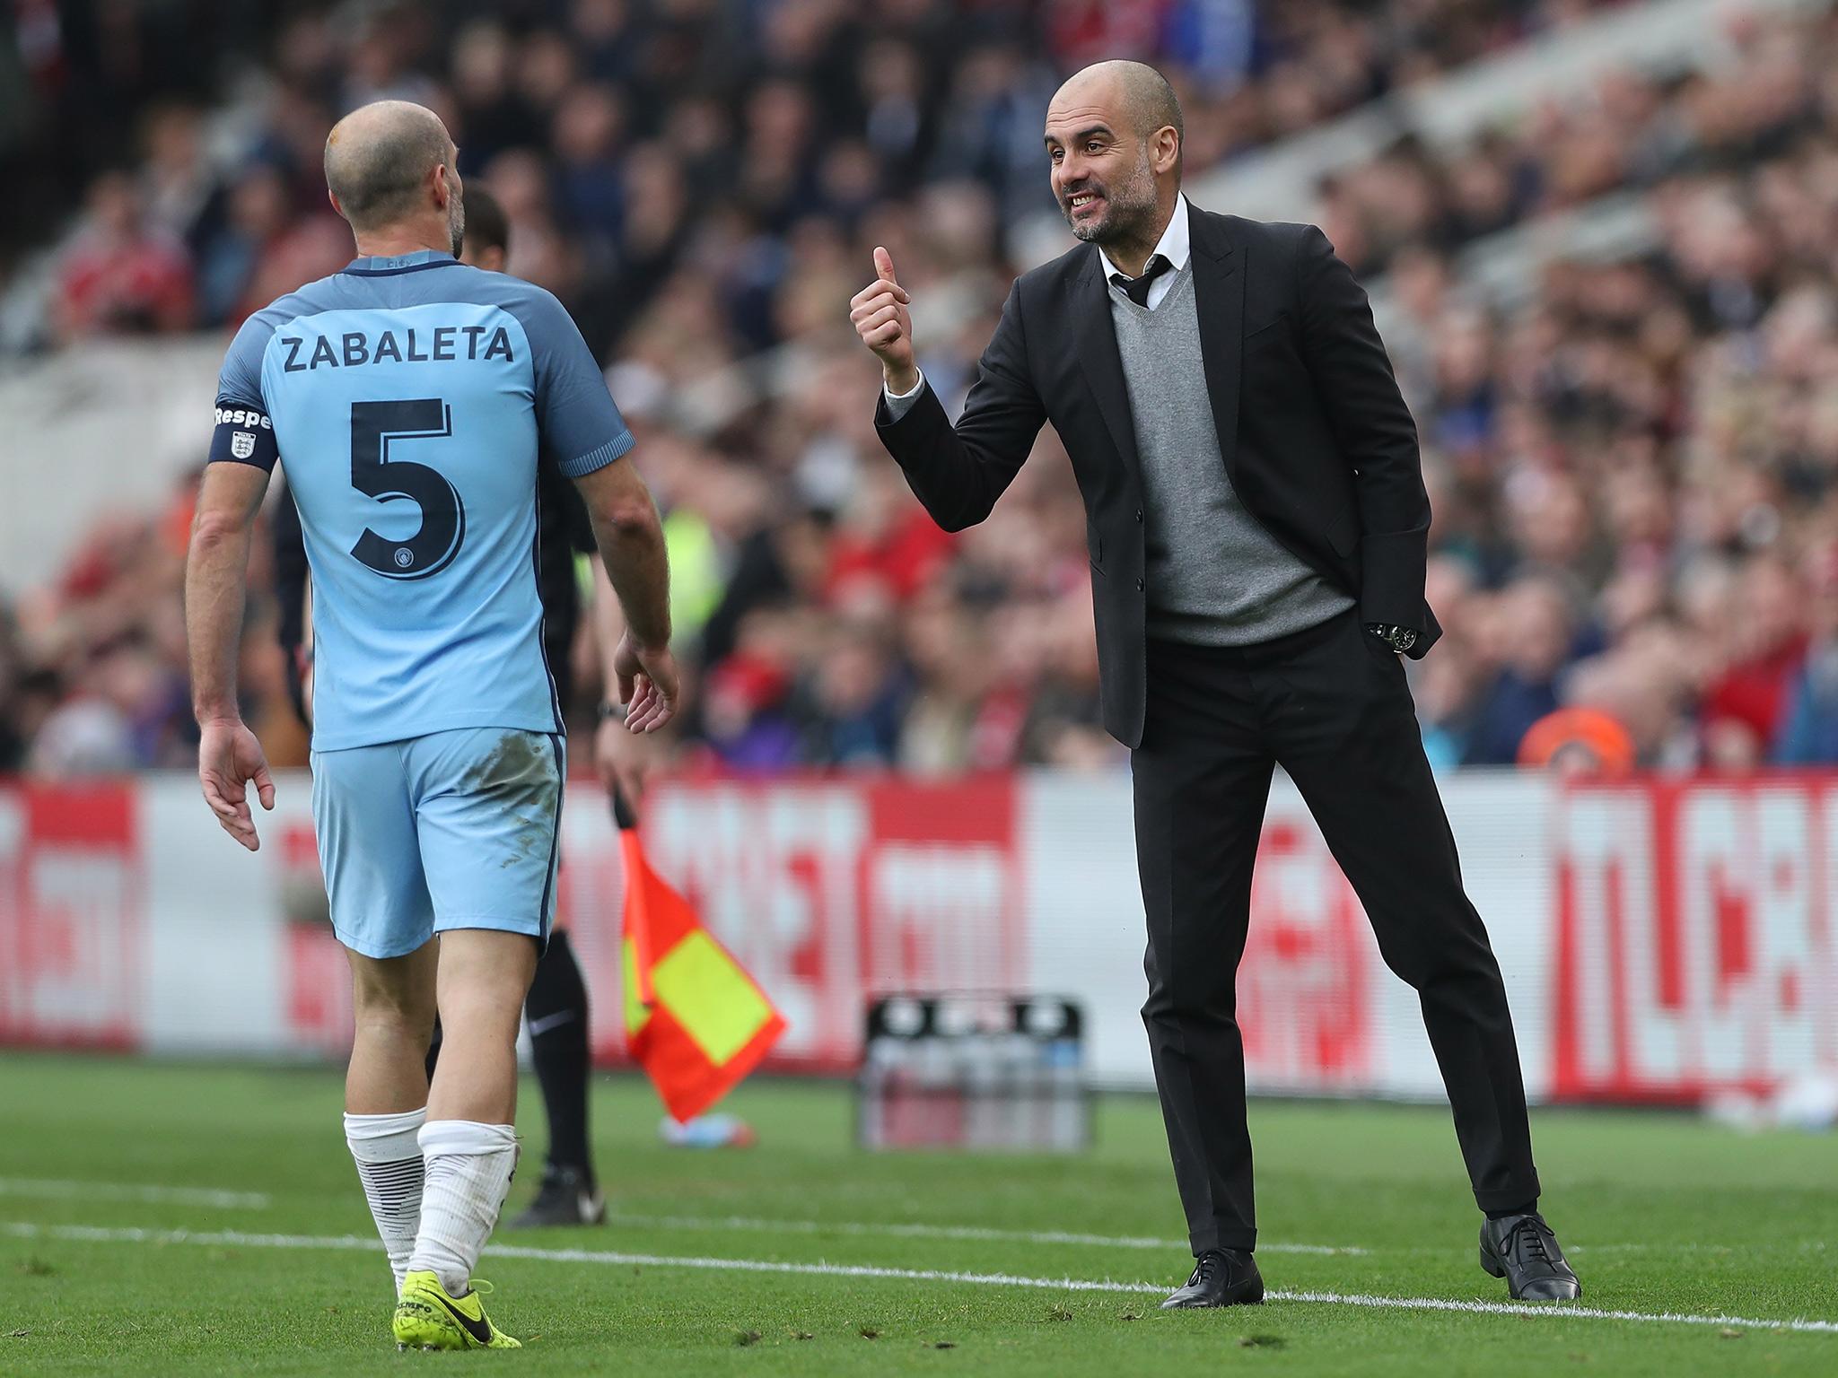
M 511 1191 L 516 1128 L 430 1119 L 421 1126 L 421 1233 L 408 1270 L 432 1270 L 447 1295 L 460 1297 Z

